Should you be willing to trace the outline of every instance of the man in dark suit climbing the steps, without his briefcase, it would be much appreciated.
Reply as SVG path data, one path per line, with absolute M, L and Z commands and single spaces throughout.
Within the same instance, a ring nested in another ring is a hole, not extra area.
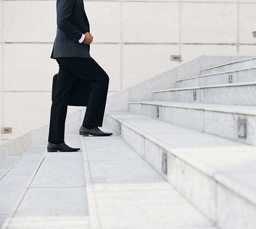
M 67 100 L 75 76 L 91 85 L 80 135 L 112 135 L 98 128 L 103 123 L 109 77 L 90 56 L 92 41 L 83 0 L 57 0 L 57 34 L 51 58 L 58 62 L 59 74 L 51 106 L 48 152 L 80 150 L 64 142 Z

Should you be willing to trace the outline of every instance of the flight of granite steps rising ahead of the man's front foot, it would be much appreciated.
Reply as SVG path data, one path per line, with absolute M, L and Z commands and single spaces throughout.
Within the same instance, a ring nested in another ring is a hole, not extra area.
M 214 225 L 256 228 L 256 58 L 182 76 L 106 123 Z

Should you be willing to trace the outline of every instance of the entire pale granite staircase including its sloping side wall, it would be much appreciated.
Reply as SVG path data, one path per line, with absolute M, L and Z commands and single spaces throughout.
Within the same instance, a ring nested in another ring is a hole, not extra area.
M 0 227 L 256 228 L 255 69 L 200 56 L 111 95 L 109 137 L 80 136 L 75 111 L 75 153 L 46 151 L 49 124 L 0 145 Z

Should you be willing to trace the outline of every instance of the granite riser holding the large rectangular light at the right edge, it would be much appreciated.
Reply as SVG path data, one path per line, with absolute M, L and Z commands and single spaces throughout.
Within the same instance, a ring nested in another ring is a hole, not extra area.
M 256 116 L 148 104 L 130 104 L 129 107 L 134 114 L 256 145 Z M 238 119 L 246 119 L 246 138 L 238 136 Z

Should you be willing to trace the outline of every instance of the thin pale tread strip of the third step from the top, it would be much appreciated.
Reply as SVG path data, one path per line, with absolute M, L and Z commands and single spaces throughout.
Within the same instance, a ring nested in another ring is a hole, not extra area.
M 205 85 L 205 86 L 196 86 L 196 87 L 180 87 L 180 88 L 170 88 L 164 90 L 154 90 L 156 92 L 168 92 L 168 91 L 179 91 L 179 90 L 193 90 L 193 89 L 203 89 L 203 88 L 213 88 L 213 87 L 237 87 L 237 86 L 250 86 L 256 85 L 256 81 L 253 82 L 241 82 L 241 83 L 230 83 L 230 84 L 217 84 L 217 85 Z

